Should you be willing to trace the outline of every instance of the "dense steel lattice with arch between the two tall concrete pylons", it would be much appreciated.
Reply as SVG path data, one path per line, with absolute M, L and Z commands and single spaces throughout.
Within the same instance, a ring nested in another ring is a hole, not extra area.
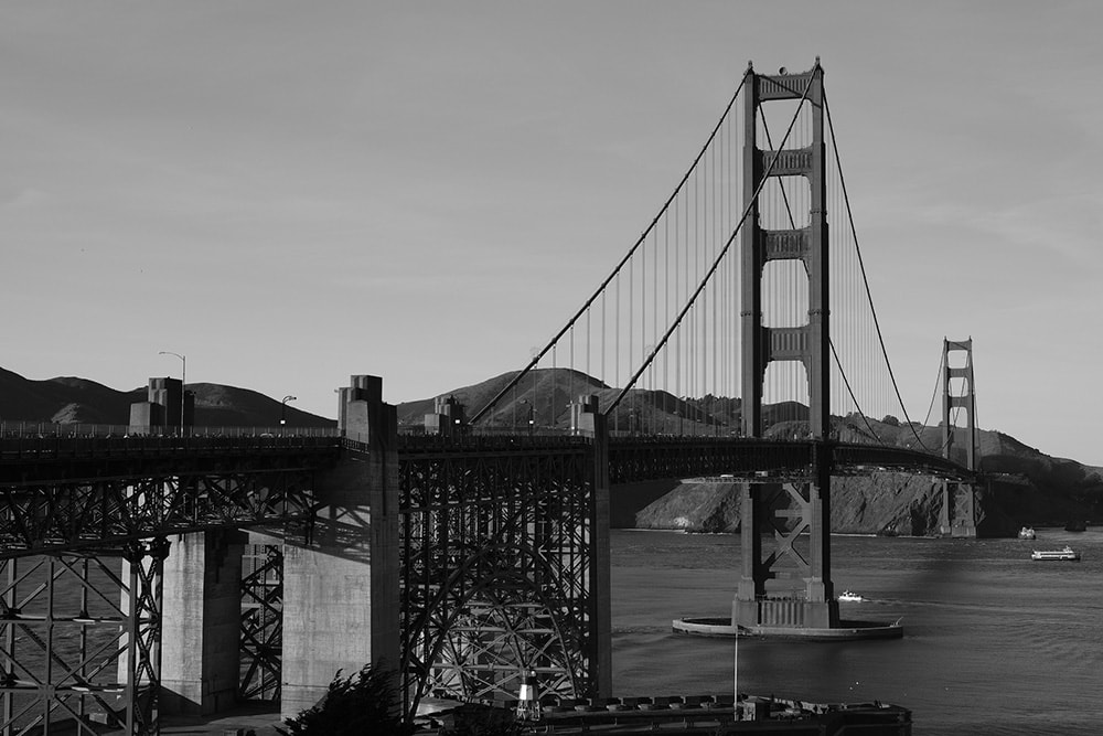
M 409 708 L 427 695 L 595 690 L 592 445 L 505 438 L 399 452 L 401 627 Z

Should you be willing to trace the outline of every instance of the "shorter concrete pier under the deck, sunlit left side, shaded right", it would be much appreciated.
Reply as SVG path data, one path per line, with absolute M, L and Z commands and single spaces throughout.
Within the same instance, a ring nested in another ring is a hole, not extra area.
M 161 706 L 210 715 L 234 706 L 240 680 L 242 552 L 237 531 L 181 534 L 163 567 Z

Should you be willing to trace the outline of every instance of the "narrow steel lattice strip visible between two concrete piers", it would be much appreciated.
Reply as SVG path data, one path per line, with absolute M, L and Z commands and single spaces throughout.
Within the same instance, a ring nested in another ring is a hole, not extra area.
M 250 544 L 242 559 L 242 701 L 279 703 L 283 547 Z

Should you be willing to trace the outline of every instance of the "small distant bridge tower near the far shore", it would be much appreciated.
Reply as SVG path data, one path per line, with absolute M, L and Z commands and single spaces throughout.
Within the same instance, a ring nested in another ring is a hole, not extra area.
M 951 353 L 955 352 L 965 353 L 964 365 L 950 364 Z M 953 409 L 964 409 L 967 416 L 964 465 L 975 471 L 977 436 L 976 395 L 973 388 L 973 339 L 961 341 L 943 339 L 942 366 L 942 455 L 951 460 L 955 459 L 954 456 L 961 455 L 954 447 L 956 433 L 951 424 L 950 414 Z M 951 385 L 954 378 L 962 381 L 961 391 L 956 395 Z M 976 493 L 972 483 L 943 481 L 939 532 L 942 536 L 976 536 Z

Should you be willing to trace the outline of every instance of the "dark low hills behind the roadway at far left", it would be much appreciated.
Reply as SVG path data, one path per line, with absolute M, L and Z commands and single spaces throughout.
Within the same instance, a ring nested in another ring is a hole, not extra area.
M 196 427 L 274 427 L 280 402 L 248 388 L 214 383 L 190 383 L 195 395 Z M 126 425 L 130 405 L 146 401 L 144 386 L 116 391 L 86 378 L 30 381 L 0 369 L 0 420 L 51 424 Z M 332 427 L 333 419 L 286 408 L 289 427 Z

